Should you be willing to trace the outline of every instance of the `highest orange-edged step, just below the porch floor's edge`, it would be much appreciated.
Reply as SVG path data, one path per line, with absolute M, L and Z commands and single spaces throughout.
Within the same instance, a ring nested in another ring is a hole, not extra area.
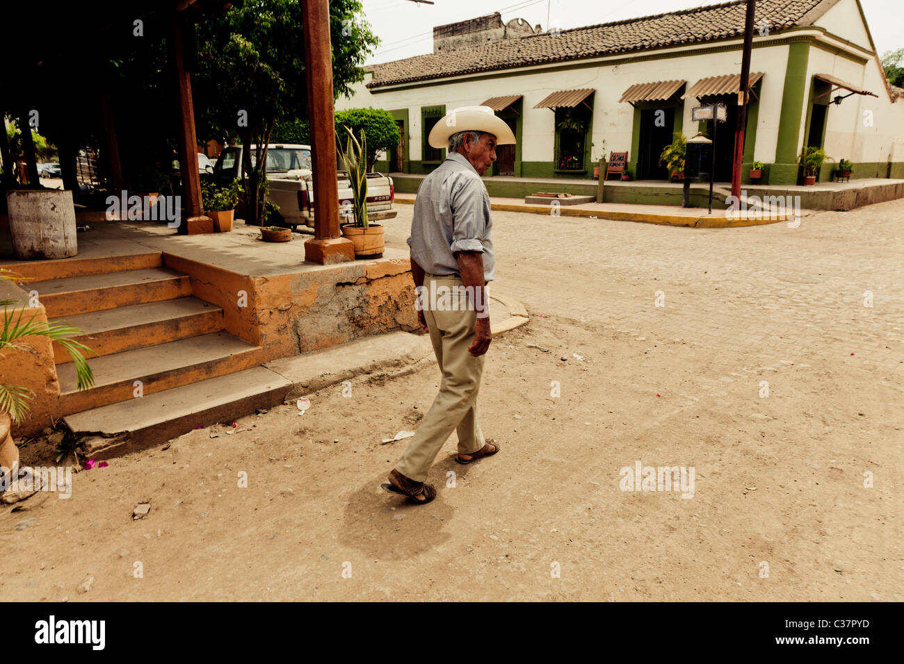
M 38 292 L 48 318 L 192 295 L 189 276 L 167 267 L 65 276 L 26 283 L 22 287 Z

